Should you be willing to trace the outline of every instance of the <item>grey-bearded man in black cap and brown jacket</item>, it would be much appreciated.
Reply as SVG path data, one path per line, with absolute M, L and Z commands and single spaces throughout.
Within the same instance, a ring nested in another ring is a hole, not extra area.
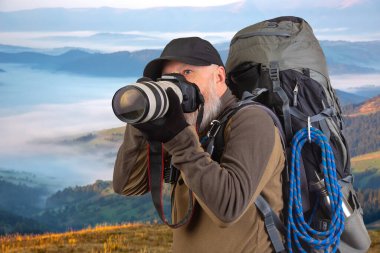
M 203 94 L 201 133 L 237 101 L 225 83 L 223 62 L 208 41 L 197 37 L 172 40 L 161 57 L 144 70 L 144 76 L 153 80 L 169 73 L 182 74 Z M 194 127 L 197 112 L 184 115 L 173 92 L 168 96 L 170 108 L 163 125 L 127 125 L 115 164 L 115 192 L 139 195 L 149 191 L 146 139 L 161 138 L 172 164 L 181 172 L 174 219 L 187 211 L 188 189 L 197 202 L 190 222 L 173 230 L 173 251 L 272 252 L 263 218 L 254 205 L 261 194 L 277 214 L 283 207 L 281 172 L 285 159 L 272 119 L 254 106 L 239 110 L 227 124 L 225 148 L 217 163 L 199 142 L 202 136 Z

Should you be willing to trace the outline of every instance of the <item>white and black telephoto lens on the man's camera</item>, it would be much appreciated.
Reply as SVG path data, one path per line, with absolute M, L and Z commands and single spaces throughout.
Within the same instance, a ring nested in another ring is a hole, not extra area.
M 119 89 L 112 99 L 115 115 L 126 123 L 138 124 L 163 117 L 169 108 L 168 88 L 177 94 L 180 103 L 181 89 L 171 81 L 144 81 Z

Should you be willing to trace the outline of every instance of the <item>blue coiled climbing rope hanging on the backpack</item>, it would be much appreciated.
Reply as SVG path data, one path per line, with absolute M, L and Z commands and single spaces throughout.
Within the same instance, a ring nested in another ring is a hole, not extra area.
M 344 229 L 344 213 L 342 210 L 342 193 L 336 176 L 334 154 L 326 136 L 317 128 L 299 130 L 292 140 L 292 161 L 290 168 L 290 190 L 287 223 L 287 248 L 289 252 L 307 252 L 302 245 L 323 252 L 336 252 L 340 236 Z M 327 231 L 317 231 L 305 222 L 302 210 L 300 159 L 305 142 L 310 140 L 321 147 L 322 172 L 325 180 L 330 205 L 331 225 Z

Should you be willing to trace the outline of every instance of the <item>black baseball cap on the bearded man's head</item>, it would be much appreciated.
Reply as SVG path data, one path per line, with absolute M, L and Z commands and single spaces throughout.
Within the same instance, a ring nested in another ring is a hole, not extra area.
M 194 66 L 223 66 L 218 51 L 207 40 L 199 37 L 178 38 L 170 41 L 157 59 L 149 62 L 144 69 L 144 77 L 156 80 L 161 77 L 166 61 L 179 61 Z

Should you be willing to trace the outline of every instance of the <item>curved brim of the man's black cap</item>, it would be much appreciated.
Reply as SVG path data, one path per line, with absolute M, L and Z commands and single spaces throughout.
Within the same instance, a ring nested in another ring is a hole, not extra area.
M 181 56 L 163 56 L 150 61 L 144 69 L 144 77 L 149 77 L 153 80 L 161 77 L 162 69 L 167 61 L 179 61 L 194 66 L 209 66 L 211 63 L 201 59 Z

